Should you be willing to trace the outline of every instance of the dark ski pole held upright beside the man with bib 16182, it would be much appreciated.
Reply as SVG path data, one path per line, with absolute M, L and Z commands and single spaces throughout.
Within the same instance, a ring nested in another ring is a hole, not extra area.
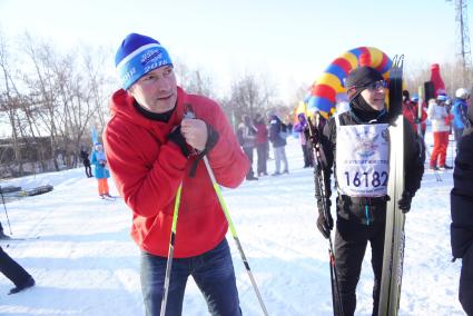
M 313 149 L 313 156 L 314 156 L 314 175 L 316 178 L 316 185 L 318 187 L 318 190 L 321 192 L 321 198 L 323 200 L 323 211 L 324 211 L 324 217 L 325 217 L 325 221 L 328 226 L 328 209 L 327 206 L 325 204 L 326 197 L 325 197 L 325 176 L 324 176 L 324 171 L 322 170 L 322 154 L 321 154 L 321 144 L 319 140 L 317 139 L 317 137 L 314 135 L 315 129 L 317 127 L 315 127 L 312 124 L 311 118 L 307 119 L 308 121 L 308 132 L 312 139 L 312 149 Z M 314 130 L 313 130 L 314 128 Z M 331 268 L 331 287 L 332 287 L 332 305 L 333 305 L 333 309 L 334 309 L 334 315 L 344 315 L 343 312 L 343 305 L 342 305 L 342 297 L 341 297 L 341 293 L 339 293 L 339 287 L 338 287 L 338 276 L 336 273 L 336 264 L 335 264 L 335 255 L 334 255 L 334 246 L 332 243 L 332 236 L 328 235 L 328 265 Z M 335 310 L 337 310 L 338 313 L 336 313 Z

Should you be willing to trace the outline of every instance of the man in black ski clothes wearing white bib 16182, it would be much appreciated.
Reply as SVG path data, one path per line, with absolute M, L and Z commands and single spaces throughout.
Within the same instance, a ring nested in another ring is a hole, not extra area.
M 319 213 L 317 228 L 325 238 L 328 238 L 333 229 L 329 214 L 333 168 L 338 192 L 335 264 L 344 315 L 355 313 L 356 285 L 368 241 L 374 271 L 373 315 L 377 315 L 388 200 L 387 135 L 393 118 L 384 103 L 386 82 L 377 70 L 366 66 L 356 68 L 348 73 L 345 85 L 349 110 L 333 116 L 321 137 L 322 154 L 326 157 L 322 167 L 325 176 L 325 200 L 316 186 Z M 423 152 L 423 142 L 404 119 L 404 160 L 408 164 L 404 165 L 405 188 L 398 200 L 403 213 L 410 210 L 412 198 L 421 186 L 425 160 Z M 323 211 L 324 204 L 328 209 L 327 218 Z

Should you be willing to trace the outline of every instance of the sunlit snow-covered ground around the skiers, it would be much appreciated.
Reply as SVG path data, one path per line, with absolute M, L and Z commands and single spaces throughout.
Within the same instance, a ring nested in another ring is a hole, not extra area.
M 315 226 L 313 171 L 302 168 L 297 139 L 289 140 L 286 151 L 289 175 L 244 182 L 225 189 L 224 197 L 269 315 L 332 315 L 327 240 Z M 268 167 L 274 170 L 274 160 Z M 461 263 L 451 263 L 452 174 L 441 171 L 442 181 L 436 181 L 427 171 L 407 214 L 400 315 L 464 315 L 457 302 Z M 55 190 L 7 204 L 13 236 L 40 239 L 0 241 L 37 280 L 36 287 L 8 296 L 12 284 L 0 275 L 0 315 L 144 315 L 139 250 L 129 237 L 131 215 L 121 199 L 99 199 L 96 180 L 86 178 L 82 168 L 1 185 L 10 184 L 51 184 Z M 227 238 L 242 310 L 263 315 L 231 235 Z M 369 254 L 367 249 L 357 288 L 357 315 L 372 310 Z M 184 315 L 206 314 L 189 280 Z

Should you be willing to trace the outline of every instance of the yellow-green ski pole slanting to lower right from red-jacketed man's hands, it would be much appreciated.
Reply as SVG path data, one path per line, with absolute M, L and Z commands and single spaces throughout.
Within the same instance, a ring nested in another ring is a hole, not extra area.
M 255 289 L 256 296 L 258 297 L 259 305 L 262 306 L 264 315 L 267 316 L 268 312 L 266 310 L 266 306 L 263 303 L 263 298 L 262 298 L 262 295 L 259 294 L 258 286 L 256 285 L 256 280 L 253 277 L 248 260 L 246 259 L 245 253 L 243 251 L 242 244 L 239 243 L 239 238 L 236 233 L 235 226 L 231 221 L 230 214 L 228 213 L 227 205 L 225 204 L 224 197 L 221 196 L 220 187 L 218 186 L 217 180 L 215 179 L 215 175 L 214 175 L 214 171 L 211 170 L 210 164 L 208 162 L 207 156 L 204 156 L 203 160 L 204 160 L 205 167 L 207 168 L 207 172 L 210 177 L 211 185 L 214 186 L 214 190 L 217 194 L 218 201 L 220 203 L 221 209 L 224 210 L 225 218 L 228 221 L 228 227 L 230 228 L 231 236 L 234 237 L 235 243 L 237 244 L 238 251 L 239 251 L 239 255 L 242 256 L 242 260 L 245 265 L 246 271 L 248 273 L 249 279 L 252 280 L 253 288 Z

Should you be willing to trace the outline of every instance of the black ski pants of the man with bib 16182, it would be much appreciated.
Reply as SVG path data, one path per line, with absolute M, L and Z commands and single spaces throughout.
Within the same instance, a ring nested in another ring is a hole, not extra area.
M 362 273 L 363 257 L 369 241 L 374 273 L 373 315 L 380 305 L 381 275 L 383 270 L 385 223 L 372 225 L 337 218 L 335 234 L 335 264 L 344 316 L 352 316 L 356 309 L 356 285 Z

